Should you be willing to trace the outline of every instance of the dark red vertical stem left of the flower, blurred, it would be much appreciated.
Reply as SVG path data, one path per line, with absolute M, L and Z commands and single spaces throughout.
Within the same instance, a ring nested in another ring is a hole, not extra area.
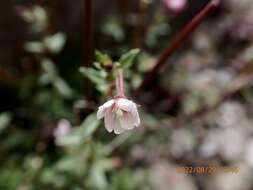
M 84 66 L 92 65 L 93 57 L 93 15 L 92 0 L 84 0 Z M 91 98 L 91 83 L 85 81 L 86 96 Z

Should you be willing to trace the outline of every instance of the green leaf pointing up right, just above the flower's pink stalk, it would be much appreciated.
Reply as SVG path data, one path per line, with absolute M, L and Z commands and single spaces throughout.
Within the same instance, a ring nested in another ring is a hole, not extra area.
M 132 49 L 129 52 L 123 54 L 119 60 L 120 67 L 123 69 L 128 69 L 133 65 L 133 62 L 137 55 L 139 54 L 139 49 Z

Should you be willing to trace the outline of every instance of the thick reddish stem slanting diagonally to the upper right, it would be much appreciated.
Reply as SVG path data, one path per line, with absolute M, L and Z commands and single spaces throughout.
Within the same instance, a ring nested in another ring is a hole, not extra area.
M 219 0 L 211 0 L 192 20 L 188 23 L 182 31 L 174 38 L 169 47 L 160 55 L 153 69 L 147 73 L 141 86 L 135 91 L 137 95 L 152 81 L 168 58 L 183 44 L 186 38 L 199 26 L 199 24 L 206 18 L 208 13 L 219 5 Z

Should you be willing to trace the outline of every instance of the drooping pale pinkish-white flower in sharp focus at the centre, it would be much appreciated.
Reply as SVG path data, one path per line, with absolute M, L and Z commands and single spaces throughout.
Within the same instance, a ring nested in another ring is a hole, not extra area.
M 107 131 L 114 131 L 115 134 L 121 134 L 140 124 L 136 104 L 126 98 L 115 98 L 100 106 L 97 118 L 102 119 L 103 117 Z

